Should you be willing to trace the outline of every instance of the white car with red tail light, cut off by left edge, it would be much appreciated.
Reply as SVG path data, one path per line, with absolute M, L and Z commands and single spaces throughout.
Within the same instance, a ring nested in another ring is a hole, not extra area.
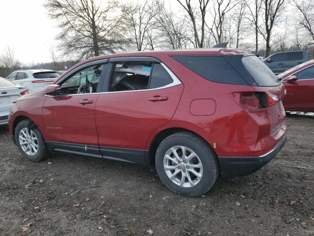
M 13 102 L 26 93 L 29 93 L 26 87 L 0 77 L 0 125 L 8 122 L 8 115 Z

